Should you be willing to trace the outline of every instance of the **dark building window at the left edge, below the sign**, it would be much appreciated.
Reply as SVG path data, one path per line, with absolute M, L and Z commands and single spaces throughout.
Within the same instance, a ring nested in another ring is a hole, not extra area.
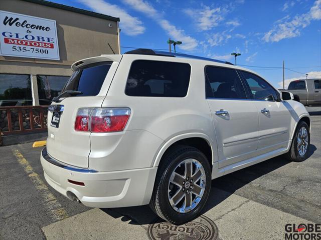
M 30 75 L 0 74 L 0 106 L 24 105 L 32 105 Z

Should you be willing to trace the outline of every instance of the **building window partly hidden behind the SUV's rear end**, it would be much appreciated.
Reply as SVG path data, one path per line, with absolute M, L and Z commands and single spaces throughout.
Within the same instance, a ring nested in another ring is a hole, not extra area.
M 38 95 L 40 105 L 50 105 L 51 99 L 58 96 L 69 76 L 37 75 Z

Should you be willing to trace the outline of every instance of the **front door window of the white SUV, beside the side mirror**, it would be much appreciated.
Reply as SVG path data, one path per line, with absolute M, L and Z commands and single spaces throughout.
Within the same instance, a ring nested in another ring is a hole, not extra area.
M 252 73 L 242 71 L 243 75 L 248 83 L 253 99 L 266 100 L 266 101 L 276 101 L 278 100 L 278 95 L 275 89 L 263 80 L 261 77 L 254 75 Z

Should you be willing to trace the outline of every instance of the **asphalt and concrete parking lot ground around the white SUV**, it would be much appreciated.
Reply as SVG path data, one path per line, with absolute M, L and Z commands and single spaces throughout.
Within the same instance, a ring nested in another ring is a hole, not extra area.
M 218 239 L 284 239 L 286 223 L 321 223 L 321 107 L 307 109 L 308 159 L 278 156 L 212 181 L 200 220 L 216 224 Z M 0 147 L 0 239 L 195 239 L 188 227 L 150 233 L 167 223 L 148 206 L 99 209 L 67 199 L 46 183 L 41 150 Z

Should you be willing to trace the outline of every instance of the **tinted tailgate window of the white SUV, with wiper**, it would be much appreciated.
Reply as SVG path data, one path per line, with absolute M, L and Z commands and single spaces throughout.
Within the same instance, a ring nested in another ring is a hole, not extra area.
M 81 91 L 79 96 L 95 96 L 111 66 L 110 61 L 101 61 L 80 67 L 71 75 L 61 92 L 66 90 Z

